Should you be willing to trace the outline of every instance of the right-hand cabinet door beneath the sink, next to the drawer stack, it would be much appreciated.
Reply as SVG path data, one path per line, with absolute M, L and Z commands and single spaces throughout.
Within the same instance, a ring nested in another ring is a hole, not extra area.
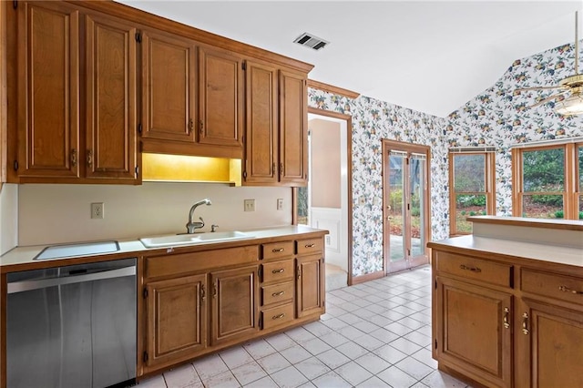
M 212 345 L 244 339 L 258 331 L 257 270 L 253 265 L 210 273 Z

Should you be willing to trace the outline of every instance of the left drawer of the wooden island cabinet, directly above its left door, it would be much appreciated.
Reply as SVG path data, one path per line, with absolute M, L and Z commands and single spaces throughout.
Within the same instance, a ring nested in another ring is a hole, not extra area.
M 512 287 L 512 265 L 449 252 L 436 252 L 437 271 L 466 279 Z

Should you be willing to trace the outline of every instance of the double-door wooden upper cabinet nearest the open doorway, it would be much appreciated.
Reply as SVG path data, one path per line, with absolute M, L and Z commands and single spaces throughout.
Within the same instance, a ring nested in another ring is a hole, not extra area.
M 306 76 L 247 61 L 246 185 L 307 184 Z

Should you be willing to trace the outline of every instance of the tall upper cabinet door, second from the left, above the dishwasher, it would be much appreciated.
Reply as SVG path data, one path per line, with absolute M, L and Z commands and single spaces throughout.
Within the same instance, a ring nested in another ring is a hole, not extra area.
M 136 179 L 136 28 L 86 16 L 87 178 Z

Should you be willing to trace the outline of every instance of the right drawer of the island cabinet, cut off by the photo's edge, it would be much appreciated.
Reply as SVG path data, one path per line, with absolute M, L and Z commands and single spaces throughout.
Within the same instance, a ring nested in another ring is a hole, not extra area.
M 523 269 L 520 289 L 561 301 L 583 304 L 583 279 Z

